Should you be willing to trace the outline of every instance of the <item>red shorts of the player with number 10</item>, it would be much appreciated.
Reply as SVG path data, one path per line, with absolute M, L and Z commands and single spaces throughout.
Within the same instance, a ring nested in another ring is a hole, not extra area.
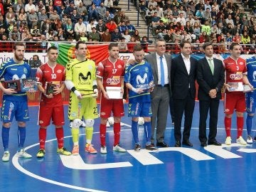
M 52 119 L 53 124 L 55 125 L 62 126 L 65 124 L 63 105 L 57 107 L 40 105 L 38 124 L 41 127 L 47 127 L 50 124 L 50 119 Z

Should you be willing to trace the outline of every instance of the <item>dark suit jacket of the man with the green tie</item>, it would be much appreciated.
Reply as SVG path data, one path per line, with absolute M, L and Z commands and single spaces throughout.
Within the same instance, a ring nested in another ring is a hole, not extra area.
M 210 100 L 208 92 L 212 89 L 218 90 L 214 100 L 221 99 L 221 87 L 224 83 L 224 67 L 221 60 L 213 58 L 214 72 L 211 73 L 210 66 L 206 58 L 198 60 L 197 82 L 198 82 L 198 100 Z

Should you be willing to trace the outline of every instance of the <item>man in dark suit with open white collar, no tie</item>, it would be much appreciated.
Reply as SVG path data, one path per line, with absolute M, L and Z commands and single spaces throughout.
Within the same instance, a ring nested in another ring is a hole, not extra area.
M 181 119 L 185 114 L 183 142 L 193 146 L 189 141 L 193 110 L 196 97 L 196 65 L 197 60 L 191 58 L 191 43 L 183 41 L 180 44 L 181 54 L 171 60 L 171 89 L 174 99 L 174 137 L 176 147 L 181 146 Z

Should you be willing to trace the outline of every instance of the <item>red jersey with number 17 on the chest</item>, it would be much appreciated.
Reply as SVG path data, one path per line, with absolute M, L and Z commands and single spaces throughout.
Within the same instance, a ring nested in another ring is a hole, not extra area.
M 125 64 L 117 59 L 112 63 L 108 58 L 99 63 L 97 78 L 102 78 L 103 87 L 121 87 L 121 78 L 124 77 Z

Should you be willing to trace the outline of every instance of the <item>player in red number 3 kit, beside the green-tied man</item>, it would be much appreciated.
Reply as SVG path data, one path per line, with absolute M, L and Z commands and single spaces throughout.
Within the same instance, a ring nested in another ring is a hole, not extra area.
M 242 84 L 250 85 L 247 79 L 247 68 L 244 59 L 240 58 L 241 46 L 238 43 L 232 43 L 230 45 L 230 57 L 226 58 L 223 63 L 225 65 L 225 132 L 227 137 L 225 139 L 225 144 L 231 144 L 231 118 L 234 110 L 237 114 L 237 127 L 238 136 L 236 142 L 239 144 L 247 144 L 242 138 L 242 128 L 243 128 L 243 113 L 245 112 L 245 93 L 242 91 L 229 92 L 228 89 L 231 87 L 228 85 L 230 82 L 242 82 Z

